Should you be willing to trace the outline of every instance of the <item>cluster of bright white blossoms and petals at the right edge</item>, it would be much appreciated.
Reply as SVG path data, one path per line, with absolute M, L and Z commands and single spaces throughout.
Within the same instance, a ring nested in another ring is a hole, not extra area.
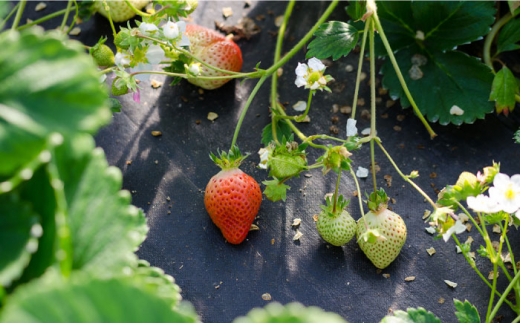
M 480 194 L 467 199 L 468 206 L 475 212 L 509 214 L 516 212 L 520 218 L 520 175 L 511 178 L 506 174 L 496 174 L 493 186 L 489 188 L 489 196 Z

